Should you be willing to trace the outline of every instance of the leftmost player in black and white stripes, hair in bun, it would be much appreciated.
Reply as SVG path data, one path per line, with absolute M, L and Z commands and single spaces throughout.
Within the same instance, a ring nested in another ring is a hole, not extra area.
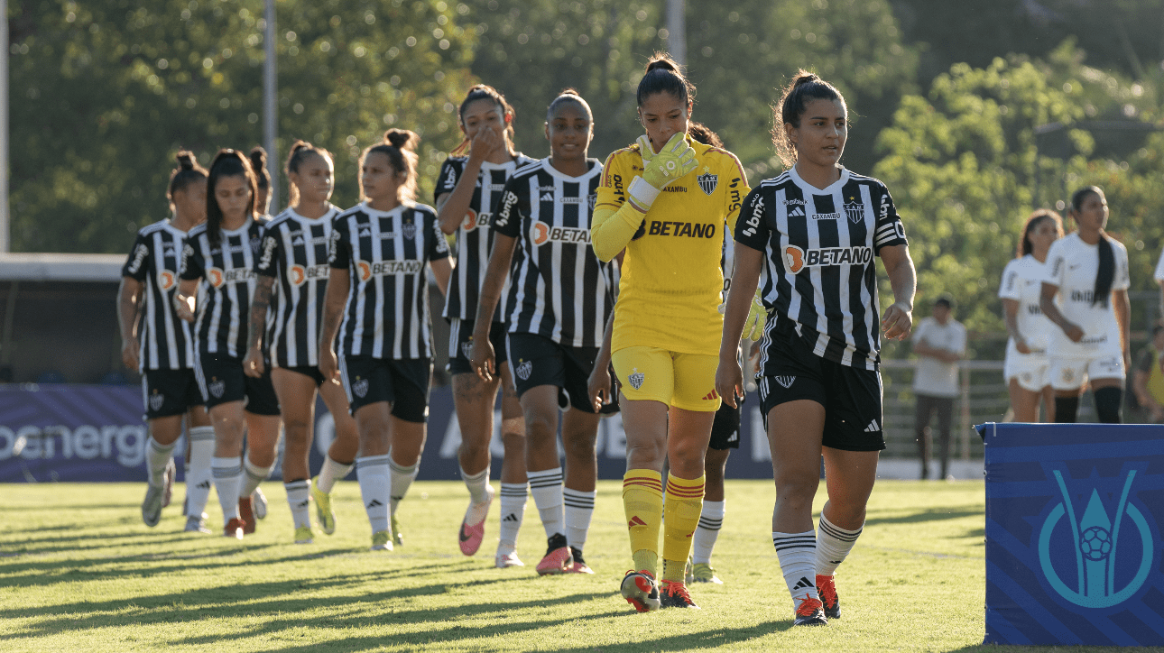
M 182 435 L 185 416 L 191 459 L 186 473 L 186 531 L 208 533 L 203 524 L 203 509 L 211 491 L 214 430 L 194 379 L 190 325 L 175 317 L 172 304 L 182 241 L 186 232 L 206 220 L 206 169 L 185 150 L 178 152 L 177 159 L 178 168 L 170 173 L 165 193 L 173 217 L 137 232 L 134 249 L 121 269 L 118 301 L 121 361 L 142 375 L 149 420 L 142 520 L 147 526 L 157 526 L 162 509 L 170 503 L 173 446 Z

